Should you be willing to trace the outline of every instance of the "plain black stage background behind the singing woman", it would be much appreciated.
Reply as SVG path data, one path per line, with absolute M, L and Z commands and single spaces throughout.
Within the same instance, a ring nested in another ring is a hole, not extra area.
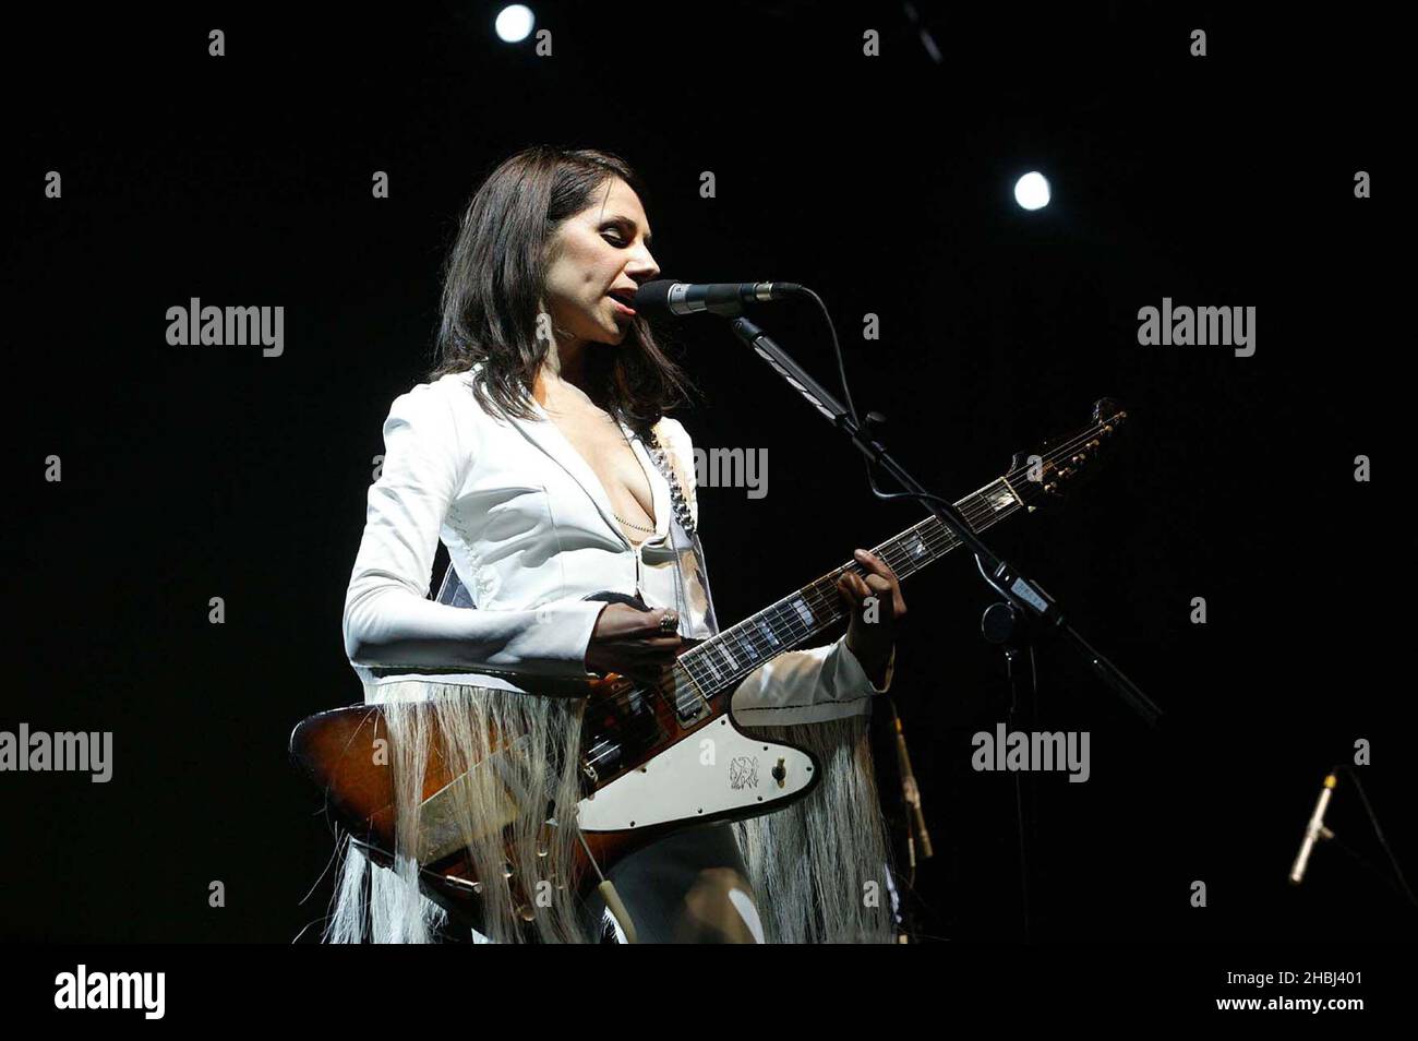
M 1388 333 L 1408 241 L 1391 241 L 1392 31 L 1204 4 L 919 7 L 942 64 L 891 3 L 543 3 L 549 58 L 498 43 L 484 4 L 13 23 L 0 729 L 112 730 L 115 774 L 0 777 L 0 936 L 288 942 L 320 918 L 329 827 L 286 737 L 360 699 L 339 623 L 380 423 L 427 374 L 468 196 L 537 142 L 638 167 L 665 275 L 817 289 L 858 407 L 943 495 L 1098 397 L 1127 407 L 1095 481 L 994 532 L 1168 713 L 1149 733 L 1041 650 L 1041 728 L 1089 730 L 1092 777 L 1037 781 L 1032 939 L 1412 936 L 1336 848 L 1285 881 L 1357 739 L 1414 862 L 1411 539 L 1378 499 L 1404 458 L 1383 448 L 1408 346 Z M 227 57 L 207 55 L 213 27 Z M 1038 213 L 1011 199 L 1031 169 L 1054 186 Z M 1374 199 L 1354 199 L 1357 170 Z M 285 353 L 169 346 L 164 312 L 191 296 L 282 305 Z M 1139 346 L 1137 309 L 1163 296 L 1255 306 L 1256 353 Z M 756 318 L 837 389 L 817 313 Z M 700 491 L 722 620 L 922 515 L 873 499 L 847 442 L 713 319 L 666 335 L 703 391 L 679 413 L 695 442 L 769 450 L 766 498 Z M 1012 777 L 970 769 L 1004 711 L 990 597 L 964 556 L 905 594 L 892 695 L 937 852 L 919 936 L 1022 939 Z M 1353 786 L 1330 824 L 1384 862 Z

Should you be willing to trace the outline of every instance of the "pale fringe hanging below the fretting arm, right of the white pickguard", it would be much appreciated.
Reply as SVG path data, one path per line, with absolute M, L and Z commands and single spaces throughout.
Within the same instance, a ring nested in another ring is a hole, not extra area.
M 895 942 L 869 722 L 855 715 L 743 728 L 807 747 L 822 774 L 817 789 L 786 810 L 735 823 L 769 943 Z M 866 906 L 872 891 L 876 906 Z

